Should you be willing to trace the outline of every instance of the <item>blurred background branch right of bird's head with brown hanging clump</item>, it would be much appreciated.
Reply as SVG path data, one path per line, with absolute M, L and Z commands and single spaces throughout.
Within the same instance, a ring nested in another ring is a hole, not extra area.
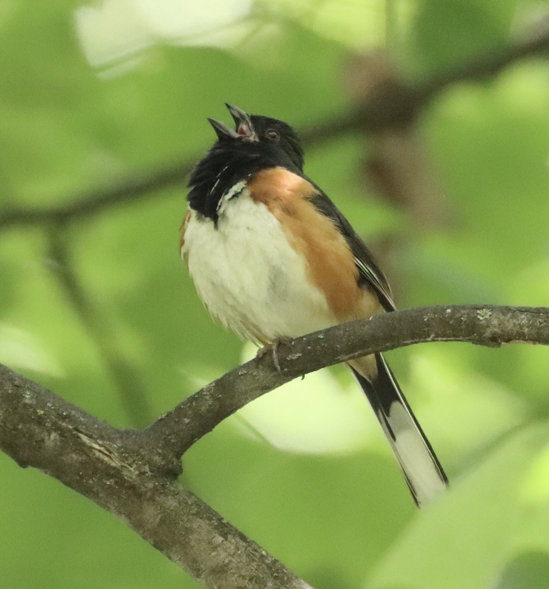
M 406 241 L 416 236 L 418 229 L 440 226 L 452 216 L 416 133 L 415 122 L 421 112 L 454 84 L 486 80 L 521 59 L 547 57 L 548 53 L 549 26 L 547 21 L 540 21 L 530 37 L 425 80 L 403 80 L 401 72 L 381 51 L 363 55 L 350 64 L 345 84 L 358 104 L 356 111 L 306 137 L 318 140 L 326 131 L 329 135 L 353 130 L 369 135 L 369 155 L 363 166 L 365 179 L 378 196 L 405 209 L 411 231 L 408 235 L 401 232 L 399 241 Z

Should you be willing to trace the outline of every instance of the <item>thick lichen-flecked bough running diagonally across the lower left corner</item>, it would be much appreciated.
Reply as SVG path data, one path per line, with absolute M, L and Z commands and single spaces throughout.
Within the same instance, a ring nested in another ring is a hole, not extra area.
M 173 477 L 154 475 L 147 441 L 0 365 L 0 449 L 19 465 L 117 515 L 206 587 L 310 589 Z

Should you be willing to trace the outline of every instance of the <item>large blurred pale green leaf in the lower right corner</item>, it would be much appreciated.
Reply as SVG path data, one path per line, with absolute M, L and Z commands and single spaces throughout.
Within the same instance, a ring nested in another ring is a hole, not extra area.
M 517 432 L 455 481 L 448 495 L 418 514 L 366 587 L 493 586 L 517 532 L 530 518 L 524 481 L 548 434 L 547 425 Z

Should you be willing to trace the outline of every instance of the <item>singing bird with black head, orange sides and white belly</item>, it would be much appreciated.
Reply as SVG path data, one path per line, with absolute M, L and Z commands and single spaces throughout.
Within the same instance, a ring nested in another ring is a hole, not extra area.
M 226 103 L 235 128 L 191 171 L 181 256 L 209 311 L 244 340 L 281 341 L 395 310 L 385 274 L 303 172 L 290 125 Z M 418 507 L 448 478 L 381 353 L 349 360 Z

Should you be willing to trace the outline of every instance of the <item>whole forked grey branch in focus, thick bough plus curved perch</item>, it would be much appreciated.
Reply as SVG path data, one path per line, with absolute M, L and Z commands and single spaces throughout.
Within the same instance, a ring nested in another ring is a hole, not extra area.
M 299 337 L 232 370 L 144 431 L 111 428 L 0 365 L 0 449 L 123 518 L 207 587 L 306 589 L 280 562 L 181 487 L 180 455 L 222 419 L 283 382 L 412 343 L 549 344 L 549 309 L 406 309 Z

